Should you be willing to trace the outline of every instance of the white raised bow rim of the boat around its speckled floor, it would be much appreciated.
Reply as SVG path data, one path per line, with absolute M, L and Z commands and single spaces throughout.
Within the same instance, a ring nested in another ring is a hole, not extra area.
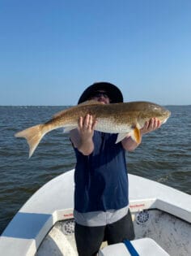
M 129 175 L 129 200 L 132 214 L 146 209 L 150 212 L 157 209 L 181 219 L 190 228 L 191 197 L 186 193 L 152 180 Z M 36 254 L 55 223 L 73 218 L 73 206 L 74 170 L 50 180 L 29 198 L 2 233 L 0 255 Z M 159 216 L 162 217 L 163 215 Z M 142 215 L 139 215 L 139 220 L 141 219 Z M 189 239 L 191 241 L 191 237 Z

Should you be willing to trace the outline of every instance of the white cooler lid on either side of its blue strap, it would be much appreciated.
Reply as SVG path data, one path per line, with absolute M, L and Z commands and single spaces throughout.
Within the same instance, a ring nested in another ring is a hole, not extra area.
M 140 256 L 169 256 L 162 247 L 160 247 L 151 238 L 141 238 L 130 242 Z M 99 256 L 132 256 L 124 243 L 108 245 L 100 249 Z M 136 254 L 137 255 L 137 254 Z

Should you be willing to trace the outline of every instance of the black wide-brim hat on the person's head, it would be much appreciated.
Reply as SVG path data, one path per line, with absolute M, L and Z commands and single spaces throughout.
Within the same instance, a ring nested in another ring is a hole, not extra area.
M 123 102 L 123 95 L 121 93 L 121 90 L 118 89 L 116 85 L 112 85 L 108 82 L 99 82 L 90 85 L 89 87 L 87 87 L 87 89 L 85 89 L 85 91 L 79 98 L 78 104 L 86 102 L 94 95 L 94 93 L 100 90 L 104 90 L 105 93 L 108 94 L 108 98 L 110 98 L 111 103 Z

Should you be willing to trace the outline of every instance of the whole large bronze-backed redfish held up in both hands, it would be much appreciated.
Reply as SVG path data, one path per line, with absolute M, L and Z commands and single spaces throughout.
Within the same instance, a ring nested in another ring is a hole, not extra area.
M 28 141 L 30 158 L 47 132 L 57 128 L 65 128 L 65 131 L 69 132 L 78 128 L 79 117 L 85 117 L 87 114 L 92 115 L 93 119 L 97 119 L 96 131 L 118 133 L 116 143 L 122 141 L 127 135 L 139 143 L 141 140 L 140 129 L 146 121 L 157 118 L 161 124 L 164 124 L 171 112 L 163 106 L 151 102 L 102 104 L 87 101 L 53 115 L 53 118 L 45 124 L 38 124 L 17 132 L 15 137 L 23 137 Z

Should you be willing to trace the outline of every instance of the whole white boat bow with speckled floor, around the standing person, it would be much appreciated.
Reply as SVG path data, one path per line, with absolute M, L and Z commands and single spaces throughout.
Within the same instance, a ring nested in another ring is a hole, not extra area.
M 129 175 L 129 209 L 138 255 L 191 255 L 191 196 Z M 74 242 L 74 170 L 29 198 L 0 236 L 2 256 L 78 255 Z M 99 255 L 130 254 L 125 244 L 103 245 Z

